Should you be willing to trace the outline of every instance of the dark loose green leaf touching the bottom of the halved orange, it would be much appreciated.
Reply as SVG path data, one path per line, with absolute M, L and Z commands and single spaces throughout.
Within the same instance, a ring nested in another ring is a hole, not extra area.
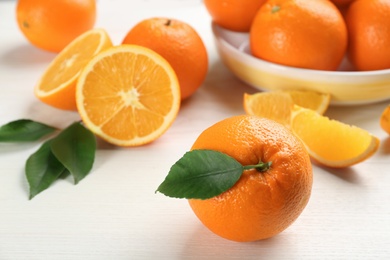
M 77 184 L 92 169 L 96 139 L 80 122 L 76 122 L 53 139 L 51 151 L 72 174 Z

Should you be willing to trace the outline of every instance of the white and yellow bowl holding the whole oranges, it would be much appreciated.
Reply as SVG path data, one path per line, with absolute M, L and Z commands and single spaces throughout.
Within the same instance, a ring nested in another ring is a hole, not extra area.
M 344 61 L 338 71 L 288 67 L 251 55 L 249 34 L 226 30 L 212 23 L 218 53 L 239 79 L 262 91 L 313 90 L 331 95 L 331 104 L 359 105 L 390 99 L 390 69 L 348 71 Z

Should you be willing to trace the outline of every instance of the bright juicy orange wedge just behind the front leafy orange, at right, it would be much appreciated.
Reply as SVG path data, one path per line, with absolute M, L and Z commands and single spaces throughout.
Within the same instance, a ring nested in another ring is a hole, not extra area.
M 379 147 L 379 139 L 366 130 L 299 106 L 294 106 L 291 129 L 310 156 L 328 167 L 352 166 L 371 157 Z

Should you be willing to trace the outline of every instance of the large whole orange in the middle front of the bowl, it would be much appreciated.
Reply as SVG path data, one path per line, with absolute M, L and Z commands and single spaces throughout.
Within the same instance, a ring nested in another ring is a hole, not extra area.
M 347 29 L 329 0 L 269 0 L 250 30 L 250 49 L 266 61 L 336 70 L 347 48 Z

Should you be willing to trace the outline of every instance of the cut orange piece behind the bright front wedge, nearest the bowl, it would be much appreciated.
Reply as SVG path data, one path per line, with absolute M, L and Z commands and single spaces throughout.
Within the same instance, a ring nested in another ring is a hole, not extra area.
M 285 126 L 290 125 L 294 104 L 323 114 L 329 106 L 330 95 L 313 91 L 285 90 L 244 94 L 244 109 L 249 115 L 266 117 Z

